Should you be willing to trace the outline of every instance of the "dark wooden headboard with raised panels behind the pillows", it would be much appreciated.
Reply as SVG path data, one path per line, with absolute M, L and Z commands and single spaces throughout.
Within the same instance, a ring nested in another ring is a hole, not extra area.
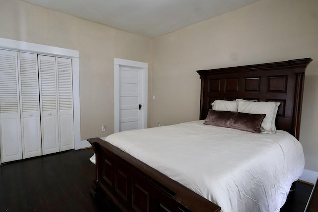
M 276 128 L 299 139 L 305 68 L 311 58 L 221 69 L 198 70 L 200 119 L 216 99 L 280 102 Z

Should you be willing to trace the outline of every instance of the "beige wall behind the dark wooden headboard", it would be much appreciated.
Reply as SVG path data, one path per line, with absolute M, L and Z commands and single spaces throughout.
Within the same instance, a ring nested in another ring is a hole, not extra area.
M 307 57 L 300 141 L 318 171 L 317 0 L 262 0 L 154 39 L 151 126 L 199 118 L 195 70 Z

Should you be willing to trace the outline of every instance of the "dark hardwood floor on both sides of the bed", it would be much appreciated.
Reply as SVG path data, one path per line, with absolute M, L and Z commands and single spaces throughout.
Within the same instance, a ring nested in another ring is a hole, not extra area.
M 71 150 L 0 167 L 0 212 L 116 212 L 106 197 L 89 194 L 92 149 Z M 296 183 L 281 212 L 303 212 L 313 186 Z

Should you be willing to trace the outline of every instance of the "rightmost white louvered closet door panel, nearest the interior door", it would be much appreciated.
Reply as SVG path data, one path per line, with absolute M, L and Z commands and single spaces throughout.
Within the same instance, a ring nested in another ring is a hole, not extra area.
M 67 58 L 56 58 L 58 84 L 58 114 L 60 151 L 74 148 L 72 62 Z

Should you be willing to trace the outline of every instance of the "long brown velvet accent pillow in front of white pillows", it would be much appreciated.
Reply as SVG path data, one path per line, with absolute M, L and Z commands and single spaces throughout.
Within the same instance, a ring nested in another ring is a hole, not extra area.
M 260 126 L 265 116 L 266 114 L 250 114 L 210 109 L 203 124 L 260 133 Z

